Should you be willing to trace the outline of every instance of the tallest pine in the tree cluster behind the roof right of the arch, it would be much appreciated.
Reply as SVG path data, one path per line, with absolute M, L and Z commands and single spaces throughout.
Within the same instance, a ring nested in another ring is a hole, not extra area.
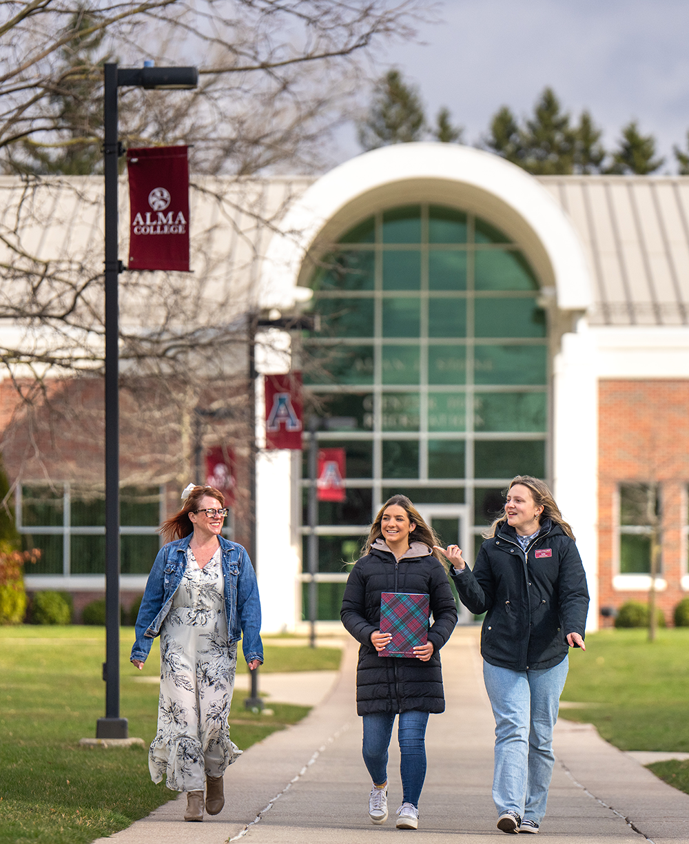
M 522 132 L 524 170 L 534 176 L 572 173 L 576 136 L 555 92 L 545 88 L 534 107 L 533 119 L 526 122 Z

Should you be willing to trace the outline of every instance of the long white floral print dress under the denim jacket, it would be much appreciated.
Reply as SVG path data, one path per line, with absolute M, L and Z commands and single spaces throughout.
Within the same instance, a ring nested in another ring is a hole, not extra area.
M 228 644 L 220 548 L 199 569 L 192 549 L 160 630 L 158 732 L 150 746 L 153 782 L 201 791 L 241 750 L 227 717 L 235 684 L 236 643 Z

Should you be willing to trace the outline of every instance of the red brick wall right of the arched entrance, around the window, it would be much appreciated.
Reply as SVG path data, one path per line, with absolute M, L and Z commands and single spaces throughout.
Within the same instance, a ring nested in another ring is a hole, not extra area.
M 656 602 L 668 624 L 675 605 L 689 592 L 686 574 L 686 487 L 689 484 L 689 381 L 599 382 L 599 605 L 619 608 L 645 603 L 647 592 L 613 588 L 618 565 L 616 491 L 625 482 L 661 484 L 663 571 L 667 589 Z M 610 625 L 610 619 L 600 619 Z

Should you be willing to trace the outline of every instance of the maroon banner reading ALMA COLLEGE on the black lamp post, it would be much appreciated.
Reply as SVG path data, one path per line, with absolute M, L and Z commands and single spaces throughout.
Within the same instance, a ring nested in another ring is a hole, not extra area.
M 127 149 L 129 269 L 189 272 L 187 147 Z

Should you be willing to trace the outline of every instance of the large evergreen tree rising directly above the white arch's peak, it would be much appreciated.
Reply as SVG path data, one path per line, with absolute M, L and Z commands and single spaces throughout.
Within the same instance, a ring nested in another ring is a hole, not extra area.
M 420 140 L 425 127 L 418 91 L 405 84 L 399 70 L 390 70 L 376 84 L 368 116 L 359 126 L 359 143 L 366 150 L 410 143 Z

